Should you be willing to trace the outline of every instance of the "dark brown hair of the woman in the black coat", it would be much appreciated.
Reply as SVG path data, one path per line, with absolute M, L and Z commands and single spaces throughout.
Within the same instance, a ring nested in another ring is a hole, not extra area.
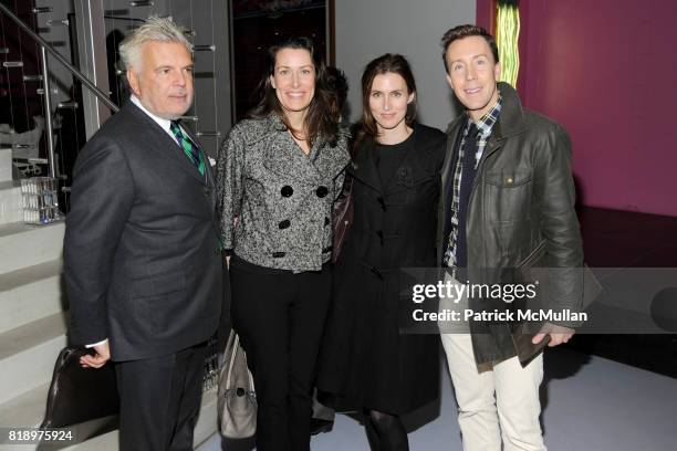
M 372 85 L 376 75 L 384 74 L 397 74 L 402 76 L 407 85 L 409 94 L 416 94 L 416 82 L 414 81 L 414 74 L 409 63 L 403 55 L 386 53 L 385 55 L 378 56 L 372 60 L 362 74 L 362 120 L 354 139 L 354 145 L 362 141 L 364 138 L 369 137 L 376 139 L 378 128 L 376 126 L 376 119 L 369 108 L 369 95 L 372 94 Z M 405 116 L 405 123 L 407 126 L 414 124 L 416 118 L 416 96 L 414 101 L 407 105 L 407 114 Z

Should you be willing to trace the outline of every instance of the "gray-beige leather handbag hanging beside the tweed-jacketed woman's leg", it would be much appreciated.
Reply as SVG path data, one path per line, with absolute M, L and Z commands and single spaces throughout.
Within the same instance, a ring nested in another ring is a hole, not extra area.
M 240 338 L 230 332 L 219 374 L 218 415 L 221 436 L 246 439 L 257 432 L 257 395 Z

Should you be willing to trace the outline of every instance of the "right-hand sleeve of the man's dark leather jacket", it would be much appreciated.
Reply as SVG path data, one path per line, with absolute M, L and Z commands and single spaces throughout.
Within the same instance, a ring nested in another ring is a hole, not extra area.
M 539 153 L 535 190 L 541 210 L 549 276 L 549 307 L 576 311 L 582 304 L 583 243 L 571 171 L 571 139 L 559 125 L 548 134 L 545 151 Z M 569 327 L 577 324 L 561 324 Z

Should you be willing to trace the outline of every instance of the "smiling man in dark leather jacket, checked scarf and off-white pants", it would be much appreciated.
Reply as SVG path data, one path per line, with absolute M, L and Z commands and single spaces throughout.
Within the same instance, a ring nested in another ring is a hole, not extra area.
M 458 281 L 483 284 L 506 283 L 506 274 L 532 265 L 555 269 L 540 301 L 579 308 L 583 252 L 566 132 L 523 109 L 517 92 L 498 82 L 498 50 L 486 30 L 460 25 L 441 43 L 447 81 L 466 113 L 447 130 L 438 261 Z M 501 441 L 507 451 L 545 450 L 541 350 L 566 343 L 575 325 L 552 321 L 521 336 L 514 323 L 470 322 L 471 333 L 442 328 L 464 450 L 500 451 Z

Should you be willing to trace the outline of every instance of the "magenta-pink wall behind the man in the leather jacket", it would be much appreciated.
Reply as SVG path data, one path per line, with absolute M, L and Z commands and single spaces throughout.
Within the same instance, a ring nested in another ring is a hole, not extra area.
M 478 0 L 486 25 L 491 0 Z M 677 1 L 522 0 L 524 105 L 561 123 L 586 206 L 677 216 Z

